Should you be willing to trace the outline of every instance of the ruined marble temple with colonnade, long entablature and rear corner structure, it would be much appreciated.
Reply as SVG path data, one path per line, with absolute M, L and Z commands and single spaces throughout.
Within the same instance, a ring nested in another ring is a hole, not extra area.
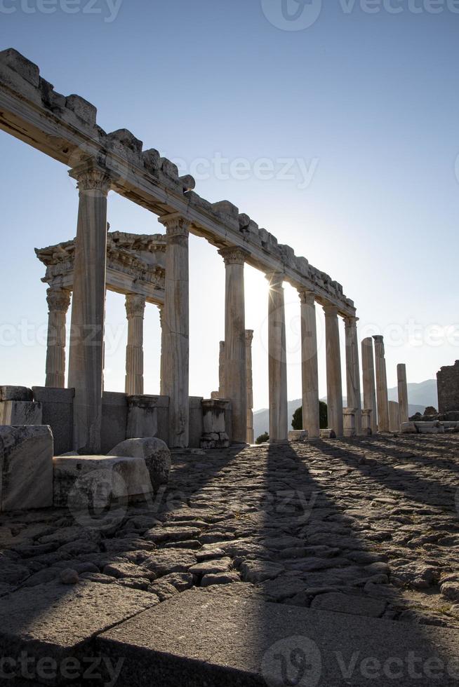
M 326 323 L 330 430 L 338 437 L 366 434 L 377 427 L 390 431 L 383 337 L 374 337 L 375 363 L 373 342 L 371 350 L 368 340 L 363 344 L 362 410 L 357 314 L 342 286 L 305 257 L 296 256 L 293 248 L 278 243 L 272 233 L 230 201 L 208 203 L 201 198 L 194 191 L 192 177 L 180 177 L 178 168 L 157 150 L 143 150 L 142 142 L 130 131 L 103 131 L 96 114 L 93 104 L 79 95 L 56 93 L 41 77 L 39 67 L 17 51 L 0 53 L 0 127 L 66 165 L 79 190 L 76 239 L 36 250 L 46 266 L 44 281 L 48 284 L 46 386 L 34 390 L 34 399 L 27 401 L 37 402 L 39 397 L 49 400 L 51 389 L 55 403 L 56 395 L 67 394 L 67 428 L 70 416 L 72 431 L 71 445 L 65 448 L 79 454 L 100 454 L 109 449 L 111 430 L 116 435 L 113 444 L 153 433 L 171 448 L 253 442 L 253 331 L 246 329 L 245 322 L 245 264 L 265 273 L 270 285 L 270 441 L 288 440 L 285 282 L 297 290 L 301 313 L 305 432 L 310 438 L 321 435 L 317 306 L 324 308 Z M 165 233 L 107 233 L 110 190 L 152 212 Z M 219 389 L 209 400 L 189 397 L 189 233 L 215 246 L 226 273 Z M 103 386 L 106 289 L 126 297 L 125 394 L 110 393 Z M 65 385 L 65 316 L 70 294 L 69 374 Z M 144 395 L 142 323 L 146 304 L 154 304 L 161 313 L 161 388 L 157 396 Z M 339 318 L 345 320 L 345 409 Z M 119 415 L 114 421 L 117 407 Z M 50 404 L 46 421 L 55 434 L 62 433 Z

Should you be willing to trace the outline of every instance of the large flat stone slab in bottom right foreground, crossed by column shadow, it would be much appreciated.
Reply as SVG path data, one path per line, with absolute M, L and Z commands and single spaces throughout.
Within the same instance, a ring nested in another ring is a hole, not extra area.
M 107 658 L 124 657 L 117 687 L 459 684 L 459 662 L 456 677 L 423 673 L 433 658 L 446 664 L 458 655 L 459 631 L 241 599 L 215 587 L 173 597 L 95 644 Z M 410 652 L 419 658 L 414 672 Z

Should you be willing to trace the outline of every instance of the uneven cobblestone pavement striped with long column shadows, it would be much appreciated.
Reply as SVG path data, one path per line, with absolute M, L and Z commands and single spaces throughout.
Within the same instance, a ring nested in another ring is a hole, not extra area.
M 155 501 L 0 518 L 0 596 L 193 586 L 459 627 L 459 436 L 178 451 Z M 215 587 L 215 585 L 219 585 Z

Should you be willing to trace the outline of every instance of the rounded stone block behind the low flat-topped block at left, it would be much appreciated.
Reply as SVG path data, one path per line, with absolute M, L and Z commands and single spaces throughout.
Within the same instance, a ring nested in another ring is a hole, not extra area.
M 156 493 L 162 484 L 169 481 L 171 472 L 171 451 L 161 439 L 126 439 L 109 452 L 109 456 L 132 456 L 145 461 L 152 489 Z

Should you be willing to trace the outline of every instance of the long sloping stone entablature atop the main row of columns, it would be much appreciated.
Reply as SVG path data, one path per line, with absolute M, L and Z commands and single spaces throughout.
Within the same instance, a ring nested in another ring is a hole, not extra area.
M 78 168 L 88 158 L 103 165 L 111 189 L 156 215 L 180 213 L 189 230 L 218 248 L 238 246 L 246 262 L 262 271 L 284 273 L 298 290 L 310 290 L 319 304 L 333 305 L 343 317 L 355 314 L 342 286 L 295 256 L 266 229 L 228 200 L 209 203 L 194 193 L 194 179 L 127 129 L 106 133 L 96 122 L 97 109 L 79 95 L 56 93 L 39 67 L 8 49 L 0 53 L 0 128 L 54 159 Z

